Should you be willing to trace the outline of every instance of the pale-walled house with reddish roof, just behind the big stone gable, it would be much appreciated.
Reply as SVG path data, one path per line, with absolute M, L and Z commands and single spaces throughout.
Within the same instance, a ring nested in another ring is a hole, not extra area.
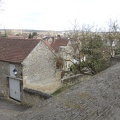
M 69 71 L 70 66 L 73 64 L 73 47 L 71 46 L 71 41 L 68 38 L 57 36 L 56 39 L 53 39 L 51 47 L 57 56 L 64 59 L 63 70 Z

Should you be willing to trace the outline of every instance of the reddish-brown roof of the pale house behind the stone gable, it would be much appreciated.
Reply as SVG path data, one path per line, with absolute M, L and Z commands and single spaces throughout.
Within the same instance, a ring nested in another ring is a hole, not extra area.
M 54 40 L 54 42 L 51 43 L 51 47 L 55 50 L 55 52 L 58 52 L 60 46 L 67 46 L 68 39 L 64 38 L 57 38 Z

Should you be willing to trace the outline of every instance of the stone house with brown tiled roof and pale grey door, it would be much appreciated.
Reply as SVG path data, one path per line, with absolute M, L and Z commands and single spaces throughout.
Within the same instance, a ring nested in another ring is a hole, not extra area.
M 0 39 L 0 96 L 24 101 L 26 88 L 51 94 L 60 87 L 59 79 L 53 49 L 46 41 Z

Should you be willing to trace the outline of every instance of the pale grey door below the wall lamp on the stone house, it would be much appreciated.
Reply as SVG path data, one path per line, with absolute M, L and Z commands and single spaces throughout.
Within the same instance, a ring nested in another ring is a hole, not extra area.
M 20 101 L 20 81 L 9 78 L 10 97 Z

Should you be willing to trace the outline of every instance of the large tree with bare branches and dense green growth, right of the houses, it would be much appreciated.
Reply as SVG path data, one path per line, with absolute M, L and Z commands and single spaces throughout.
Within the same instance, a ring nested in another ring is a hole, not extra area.
M 104 44 L 101 32 L 94 26 L 83 25 L 81 28 L 75 23 L 70 31 L 70 41 L 73 51 L 71 55 L 76 62 L 73 66 L 80 73 L 83 68 L 91 71 L 92 74 L 100 72 L 108 66 L 108 59 L 104 53 Z M 67 59 L 69 61 L 69 59 Z M 107 63 L 104 65 L 104 63 Z

